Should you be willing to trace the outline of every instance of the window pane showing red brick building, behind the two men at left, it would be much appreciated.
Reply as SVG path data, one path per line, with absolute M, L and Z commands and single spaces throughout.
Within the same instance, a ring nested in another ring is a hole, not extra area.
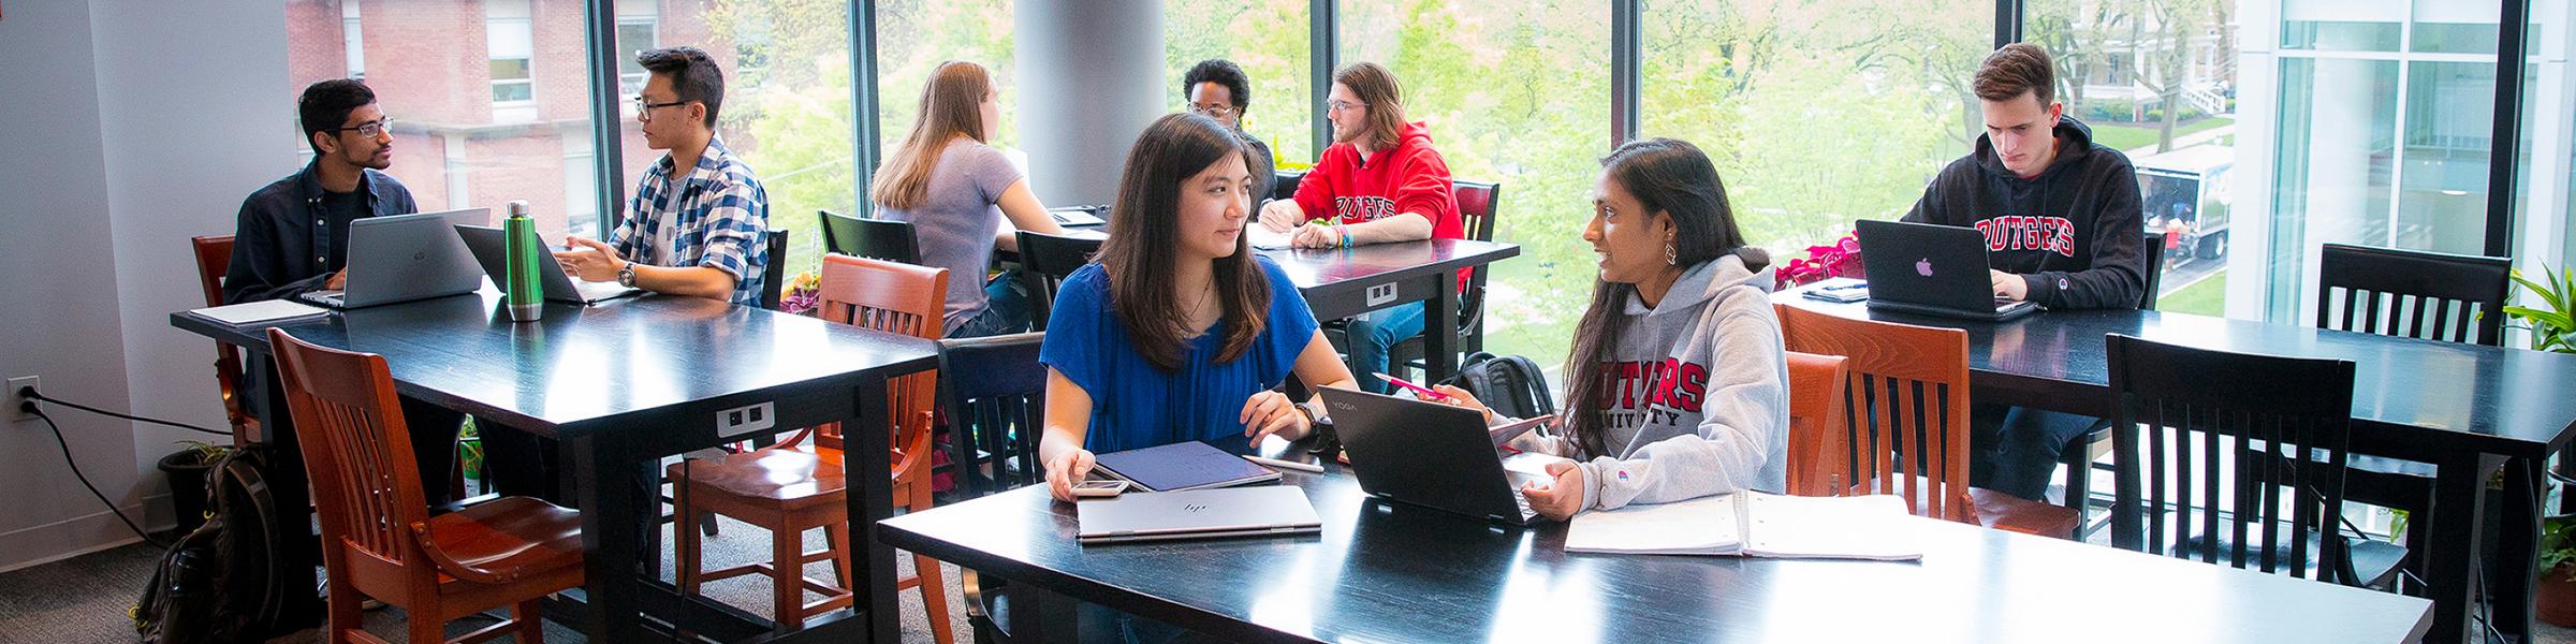
M 495 0 L 464 10 L 407 0 L 350 5 L 286 3 L 289 80 L 301 90 L 363 64 L 366 85 L 394 118 L 386 173 L 422 211 L 500 211 L 526 198 L 549 240 L 598 234 L 580 0 Z M 469 54 L 456 57 L 459 49 Z M 507 54 L 507 64 L 497 54 Z M 513 75 L 497 75 L 500 67 Z M 289 106 L 281 118 L 294 121 L 294 98 L 278 106 Z M 307 149 L 301 137 L 294 144 Z M 294 167 L 278 167 L 283 173 Z

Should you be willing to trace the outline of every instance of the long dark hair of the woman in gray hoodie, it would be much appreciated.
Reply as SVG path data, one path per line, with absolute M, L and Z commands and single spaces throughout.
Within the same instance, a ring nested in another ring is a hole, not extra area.
M 1736 229 L 1736 211 L 1726 204 L 1726 183 L 1700 147 L 1682 139 L 1638 139 L 1610 149 L 1602 157 L 1602 175 L 1628 188 L 1646 216 L 1672 216 L 1674 265 L 1700 265 L 1721 255 L 1744 258 L 1744 268 L 1762 270 L 1770 252 L 1744 245 Z M 1574 353 L 1566 355 L 1566 428 L 1587 456 L 1610 456 L 1605 412 L 1610 407 L 1613 379 L 1602 358 L 1620 343 L 1620 314 L 1636 283 L 1592 283 L 1592 309 L 1584 309 L 1574 332 Z

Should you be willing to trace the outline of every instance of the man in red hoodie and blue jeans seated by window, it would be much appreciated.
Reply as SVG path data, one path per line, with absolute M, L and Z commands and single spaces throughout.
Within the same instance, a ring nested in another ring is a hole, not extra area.
M 1432 149 L 1432 134 L 1422 124 L 1404 121 L 1394 72 L 1376 62 L 1342 67 L 1332 75 L 1324 106 L 1334 144 L 1298 183 L 1293 201 L 1262 209 L 1262 227 L 1293 229 L 1291 242 L 1298 247 L 1466 237 L 1448 162 Z M 1466 278 L 1458 270 L 1458 283 Z M 1386 384 L 1368 374 L 1386 374 L 1386 348 L 1414 335 L 1422 335 L 1422 301 L 1352 317 L 1347 337 L 1360 386 L 1383 394 Z

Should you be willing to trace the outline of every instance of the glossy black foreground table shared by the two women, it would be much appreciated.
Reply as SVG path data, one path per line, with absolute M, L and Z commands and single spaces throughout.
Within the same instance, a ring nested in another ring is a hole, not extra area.
M 1231 641 L 2409 641 L 2429 605 L 2282 574 L 1909 520 L 1922 562 L 1566 554 L 1504 528 L 1288 471 L 1321 536 L 1079 546 L 1043 487 L 876 536 L 1005 577 L 1012 636 L 1097 603 Z

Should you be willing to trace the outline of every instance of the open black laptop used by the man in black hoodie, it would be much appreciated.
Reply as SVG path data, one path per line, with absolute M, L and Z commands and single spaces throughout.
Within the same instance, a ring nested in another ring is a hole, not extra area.
M 1994 296 L 1986 234 L 1971 227 L 1860 222 L 1860 268 L 1870 273 L 1870 309 L 1965 319 L 2014 319 L 2038 304 Z

